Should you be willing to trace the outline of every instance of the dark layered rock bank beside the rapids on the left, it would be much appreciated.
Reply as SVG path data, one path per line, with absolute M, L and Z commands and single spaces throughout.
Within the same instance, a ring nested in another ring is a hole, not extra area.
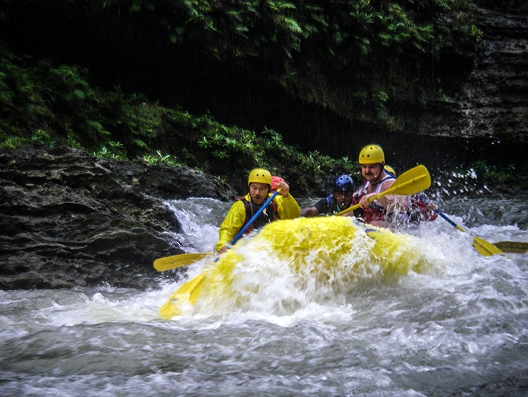
M 153 260 L 182 252 L 163 200 L 191 196 L 234 193 L 187 168 L 67 147 L 0 152 L 0 289 L 155 286 Z

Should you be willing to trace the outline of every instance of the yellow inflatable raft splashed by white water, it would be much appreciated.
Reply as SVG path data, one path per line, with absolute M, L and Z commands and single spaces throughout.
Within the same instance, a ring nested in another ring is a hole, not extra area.
M 275 221 L 184 282 L 160 314 L 170 319 L 210 305 L 233 310 L 258 294 L 310 291 L 310 296 L 325 299 L 346 293 L 358 281 L 423 272 L 430 266 L 419 239 L 359 224 L 352 217 Z

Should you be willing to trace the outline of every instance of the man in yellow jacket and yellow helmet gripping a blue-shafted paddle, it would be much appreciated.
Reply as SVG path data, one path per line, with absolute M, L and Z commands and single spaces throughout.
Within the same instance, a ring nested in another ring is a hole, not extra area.
M 234 236 L 239 233 L 241 228 L 253 218 L 253 215 L 268 200 L 271 185 L 270 171 L 253 169 L 249 173 L 249 193 L 234 202 L 220 225 L 219 239 L 216 244 L 218 253 L 222 254 L 227 250 Z M 277 183 L 277 188 L 279 194 L 265 207 L 263 212 L 246 229 L 245 233 L 250 233 L 253 229 L 260 228 L 277 219 L 294 219 L 301 214 L 301 207 L 298 206 L 294 197 L 289 194 L 289 185 L 282 181 Z

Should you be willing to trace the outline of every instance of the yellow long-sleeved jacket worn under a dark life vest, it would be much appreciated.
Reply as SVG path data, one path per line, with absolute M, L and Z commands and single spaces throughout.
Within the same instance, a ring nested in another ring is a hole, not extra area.
M 268 195 L 268 197 L 270 197 Z M 251 202 L 251 196 L 249 193 L 244 197 L 246 200 Z M 301 207 L 298 206 L 292 195 L 284 197 L 280 194 L 275 196 L 273 202 L 277 204 L 277 212 L 279 213 L 279 219 L 294 219 L 301 214 Z M 248 219 L 249 220 L 249 219 Z M 218 231 L 219 240 L 216 244 L 216 250 L 220 250 L 224 245 L 231 243 L 234 236 L 240 231 L 244 222 L 246 221 L 246 208 L 242 200 L 237 200 L 231 206 L 229 212 L 225 216 L 224 221 L 220 225 L 220 231 Z

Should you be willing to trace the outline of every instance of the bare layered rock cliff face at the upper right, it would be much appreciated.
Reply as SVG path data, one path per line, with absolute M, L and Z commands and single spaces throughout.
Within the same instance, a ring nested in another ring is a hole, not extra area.
M 406 130 L 418 135 L 493 138 L 528 142 L 528 16 L 491 11 L 474 15 L 484 33 L 476 60 L 445 56 L 451 71 L 467 78 L 452 82 L 453 92 L 439 92 L 425 111 L 405 116 Z M 451 78 L 445 75 L 444 80 Z M 442 81 L 450 85 L 448 81 Z

